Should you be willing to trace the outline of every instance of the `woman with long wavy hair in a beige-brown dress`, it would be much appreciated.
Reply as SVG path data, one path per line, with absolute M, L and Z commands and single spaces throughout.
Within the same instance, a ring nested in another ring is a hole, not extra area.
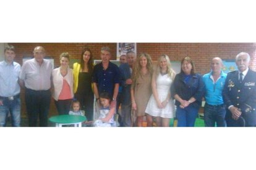
M 132 71 L 132 87 L 130 97 L 132 100 L 132 110 L 137 116 L 137 126 L 141 127 L 143 116 L 146 115 L 145 109 L 151 92 L 151 77 L 153 74 L 152 60 L 149 54 L 143 53 L 137 57 Z M 149 120 L 151 116 L 147 114 L 147 126 L 152 126 Z

